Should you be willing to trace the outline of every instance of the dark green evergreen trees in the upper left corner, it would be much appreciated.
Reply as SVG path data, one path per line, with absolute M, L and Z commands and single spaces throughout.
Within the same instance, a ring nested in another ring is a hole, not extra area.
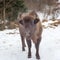
M 0 0 L 0 11 L 5 20 L 16 18 L 19 11 L 26 11 L 26 7 L 23 0 Z

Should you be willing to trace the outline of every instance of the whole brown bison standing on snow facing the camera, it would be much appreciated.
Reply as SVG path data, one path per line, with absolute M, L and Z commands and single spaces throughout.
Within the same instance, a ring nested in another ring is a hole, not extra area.
M 18 15 L 22 50 L 25 51 L 25 40 L 28 45 L 28 58 L 31 58 L 31 41 L 35 43 L 36 58 L 40 59 L 39 44 L 41 42 L 42 24 L 35 11 Z

